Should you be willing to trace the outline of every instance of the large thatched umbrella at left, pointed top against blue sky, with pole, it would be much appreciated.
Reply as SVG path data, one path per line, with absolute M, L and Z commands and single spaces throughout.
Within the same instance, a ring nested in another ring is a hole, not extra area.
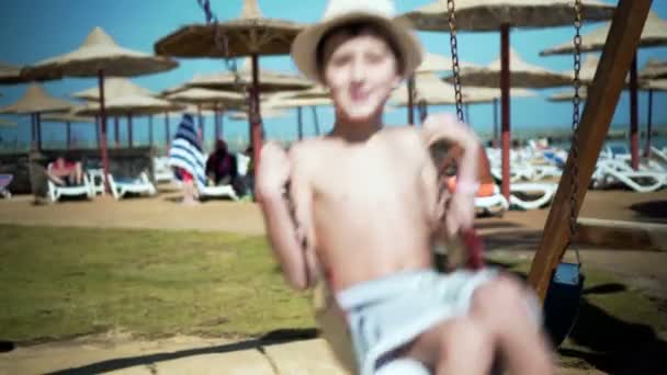
M 106 111 L 104 77 L 132 77 L 170 70 L 178 64 L 169 58 L 150 56 L 118 46 L 102 29 L 95 27 L 79 48 L 34 65 L 29 75 L 57 72 L 66 77 L 98 77 L 100 90 L 100 148 L 104 174 L 109 173 L 106 152 Z

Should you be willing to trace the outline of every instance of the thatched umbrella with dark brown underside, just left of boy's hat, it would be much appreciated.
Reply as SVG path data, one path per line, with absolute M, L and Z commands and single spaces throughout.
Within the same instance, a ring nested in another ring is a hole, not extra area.
M 210 2 L 204 3 L 204 8 L 210 9 Z M 246 82 L 249 83 L 250 138 L 257 167 L 261 148 L 259 56 L 290 54 L 292 41 L 302 29 L 303 25 L 295 22 L 263 18 L 257 0 L 245 0 L 238 19 L 181 27 L 156 43 L 155 50 L 178 57 L 251 57 L 251 79 Z M 216 47 L 219 37 L 224 43 Z

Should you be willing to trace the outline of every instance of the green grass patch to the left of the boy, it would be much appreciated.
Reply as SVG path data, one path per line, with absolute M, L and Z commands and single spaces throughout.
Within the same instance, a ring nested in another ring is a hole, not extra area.
M 0 338 L 122 330 L 255 337 L 314 327 L 263 238 L 0 226 Z

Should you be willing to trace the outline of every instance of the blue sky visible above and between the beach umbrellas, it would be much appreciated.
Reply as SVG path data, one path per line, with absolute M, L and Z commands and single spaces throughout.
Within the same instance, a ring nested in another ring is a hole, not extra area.
M 432 0 L 397 0 L 398 12 L 406 12 L 427 4 Z M 212 0 L 212 7 L 221 20 L 236 18 L 242 0 Z M 615 1 L 607 1 L 615 3 Z M 287 19 L 301 22 L 317 21 L 326 5 L 325 0 L 259 0 L 265 16 Z M 667 1 L 654 1 L 653 11 L 660 18 L 667 19 Z M 14 65 L 32 64 L 44 58 L 60 55 L 75 49 L 83 42 L 94 26 L 101 26 L 120 45 L 147 53 L 152 52 L 156 41 L 179 29 L 181 25 L 204 22 L 204 14 L 196 0 L 3 0 L 0 2 L 0 60 Z M 595 29 L 595 24 L 585 26 L 584 32 Z M 441 33 L 419 33 L 429 52 L 449 55 L 449 37 Z M 549 69 L 565 71 L 572 69 L 572 56 L 540 57 L 539 52 L 572 39 L 572 27 L 557 27 L 536 31 L 515 30 L 511 33 L 511 46 L 528 63 Z M 461 59 L 478 65 L 486 65 L 499 54 L 498 33 L 461 33 Z M 640 50 L 640 68 L 648 58 L 667 59 L 667 47 L 643 48 Z M 181 59 L 178 69 L 133 78 L 133 80 L 154 91 L 178 86 L 190 80 L 195 73 L 219 71 L 225 65 L 219 59 Z M 260 65 L 269 69 L 295 70 L 289 57 L 263 57 Z M 61 81 L 47 82 L 47 91 L 59 98 L 69 98 L 78 90 L 95 86 L 94 79 L 67 78 Z M 0 105 L 13 103 L 24 91 L 23 86 L 0 86 Z M 512 100 L 513 129 L 533 128 L 565 128 L 572 117 L 572 104 L 551 103 L 546 96 L 555 91 L 541 90 L 540 96 Z M 655 103 L 665 103 L 667 94 L 654 94 Z M 640 96 L 640 120 L 646 118 L 647 95 Z M 623 126 L 629 122 L 629 99 L 624 93 L 621 98 L 613 125 Z M 432 109 L 431 111 L 451 111 L 451 107 Z M 325 129 L 330 127 L 331 111 L 320 109 L 320 124 Z M 7 116 L 4 116 L 7 118 Z M 12 118 L 12 117 L 10 117 Z M 312 132 L 309 113 L 306 120 L 306 133 Z M 29 122 L 20 122 L 18 130 L 0 128 L 3 141 L 18 137 L 19 143 L 29 138 Z M 406 113 L 403 110 L 388 112 L 385 121 L 388 124 L 403 124 Z M 493 123 L 490 105 L 471 107 L 471 122 L 479 132 L 488 132 Z M 156 120 L 156 124 L 162 124 Z M 173 124 L 174 121 L 172 120 Z M 271 138 L 291 138 L 295 135 L 295 114 L 282 118 L 264 121 L 268 136 Z M 143 141 L 147 138 L 145 121 L 135 121 L 135 139 Z M 211 135 L 212 120 L 207 121 L 207 133 Z M 654 124 L 667 124 L 667 107 L 654 105 Z M 64 139 L 64 126 L 47 124 L 43 126 L 45 141 Z M 91 138 L 89 125 L 75 127 L 79 138 Z M 173 125 L 172 125 L 173 128 Z M 16 133 L 15 133 L 16 132 Z M 121 136 L 124 134 L 122 133 Z M 242 139 L 247 136 L 247 123 L 225 118 L 225 137 L 230 140 Z M 163 139 L 162 126 L 156 126 L 156 137 Z

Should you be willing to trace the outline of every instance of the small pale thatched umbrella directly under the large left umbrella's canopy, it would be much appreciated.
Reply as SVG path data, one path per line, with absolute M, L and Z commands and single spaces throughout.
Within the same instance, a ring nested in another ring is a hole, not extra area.
M 113 77 L 104 80 L 104 99 L 111 100 L 127 95 L 142 95 L 142 96 L 157 96 L 157 93 L 143 88 L 127 78 Z M 89 102 L 100 102 L 100 89 L 98 87 L 89 88 L 86 90 L 77 91 L 71 96 L 81 99 Z M 120 128 L 118 128 L 118 117 L 114 116 L 114 143 L 116 147 L 120 147 Z M 128 144 L 132 145 L 132 118 L 127 117 L 127 138 Z M 150 132 L 152 132 L 152 125 L 150 126 Z

